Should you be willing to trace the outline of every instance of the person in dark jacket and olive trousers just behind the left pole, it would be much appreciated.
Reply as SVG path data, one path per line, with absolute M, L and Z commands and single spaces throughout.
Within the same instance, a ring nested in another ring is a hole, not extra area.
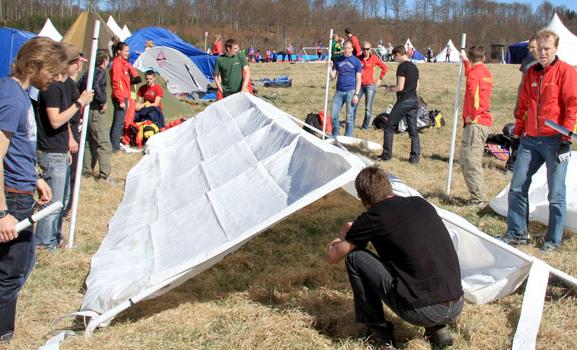
M 107 50 L 98 50 L 96 52 L 96 68 L 94 69 L 92 82 L 94 100 L 90 104 L 88 133 L 86 135 L 89 149 L 84 153 L 82 173 L 93 176 L 94 168 L 98 162 L 98 178 L 111 183 L 113 182 L 110 161 L 112 144 L 110 143 L 109 135 L 110 121 L 106 118 L 106 67 L 108 67 L 109 62 L 110 56 Z M 82 77 L 79 83 L 81 90 L 86 88 L 87 74 Z

